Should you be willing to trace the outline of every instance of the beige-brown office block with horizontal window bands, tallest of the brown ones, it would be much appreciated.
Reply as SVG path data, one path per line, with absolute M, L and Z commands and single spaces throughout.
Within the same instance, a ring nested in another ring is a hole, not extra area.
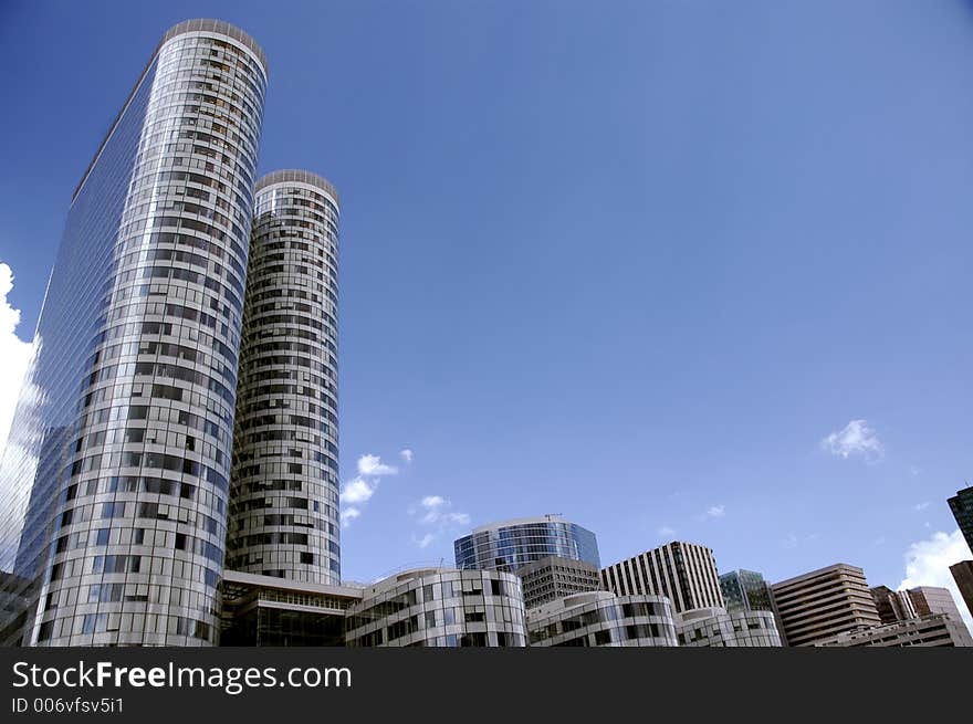
M 787 646 L 814 646 L 881 625 L 865 571 L 839 563 L 771 586 Z

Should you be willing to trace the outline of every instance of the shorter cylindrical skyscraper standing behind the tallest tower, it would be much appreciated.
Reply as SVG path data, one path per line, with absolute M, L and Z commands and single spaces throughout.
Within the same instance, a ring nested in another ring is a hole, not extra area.
M 257 182 L 227 567 L 341 581 L 338 196 L 315 174 Z

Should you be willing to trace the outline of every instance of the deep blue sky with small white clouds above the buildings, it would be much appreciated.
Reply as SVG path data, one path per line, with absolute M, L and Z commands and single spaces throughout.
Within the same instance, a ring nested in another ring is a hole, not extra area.
M 542 513 L 606 564 L 680 538 L 772 580 L 970 555 L 971 3 L 8 0 L 21 339 L 72 189 L 193 17 L 268 53 L 261 171 L 342 195 L 343 481 L 373 492 L 347 578 Z

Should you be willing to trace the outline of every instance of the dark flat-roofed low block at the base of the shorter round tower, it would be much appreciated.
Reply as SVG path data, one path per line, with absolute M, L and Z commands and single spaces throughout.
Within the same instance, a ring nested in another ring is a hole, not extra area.
M 227 570 L 220 590 L 220 646 L 339 647 L 363 589 Z

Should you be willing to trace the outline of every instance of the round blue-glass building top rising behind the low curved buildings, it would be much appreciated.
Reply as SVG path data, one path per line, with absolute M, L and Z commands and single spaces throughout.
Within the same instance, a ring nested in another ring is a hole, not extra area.
M 456 541 L 453 548 L 460 569 L 514 573 L 548 556 L 601 565 L 595 534 L 557 515 L 484 525 Z

